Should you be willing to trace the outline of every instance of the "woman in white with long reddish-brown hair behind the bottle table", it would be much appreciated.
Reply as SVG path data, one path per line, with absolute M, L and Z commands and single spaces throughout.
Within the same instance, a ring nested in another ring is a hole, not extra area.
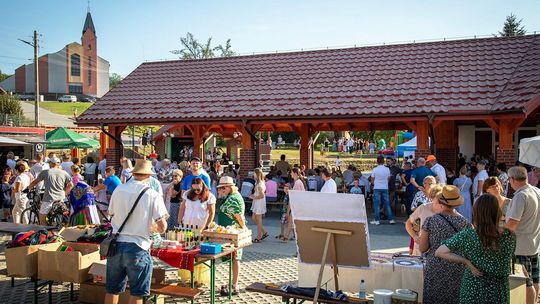
M 214 221 L 216 197 L 201 178 L 194 178 L 191 189 L 182 195 L 182 206 L 178 211 L 178 223 L 184 226 L 205 229 Z

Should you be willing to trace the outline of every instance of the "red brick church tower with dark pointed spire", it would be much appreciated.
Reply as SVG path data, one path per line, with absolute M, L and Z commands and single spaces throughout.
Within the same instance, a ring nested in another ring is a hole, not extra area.
M 83 80 L 83 94 L 97 95 L 97 37 L 96 28 L 92 21 L 90 9 L 86 13 L 86 20 L 81 37 L 83 58 L 81 58 L 81 72 Z

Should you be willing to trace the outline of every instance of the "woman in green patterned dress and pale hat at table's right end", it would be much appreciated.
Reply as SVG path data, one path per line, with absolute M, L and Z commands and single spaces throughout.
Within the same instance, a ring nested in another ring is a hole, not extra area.
M 238 187 L 234 184 L 234 180 L 230 176 L 223 176 L 219 179 L 217 185 L 218 196 L 221 198 L 222 203 L 219 206 L 218 224 L 221 226 L 234 225 L 237 228 L 246 228 L 246 219 L 244 213 L 246 207 L 244 199 Z M 238 249 L 233 254 L 232 260 L 232 294 L 238 294 L 238 273 L 240 271 L 240 260 L 242 259 L 242 249 Z M 226 286 L 221 287 L 222 295 L 227 295 L 229 292 Z

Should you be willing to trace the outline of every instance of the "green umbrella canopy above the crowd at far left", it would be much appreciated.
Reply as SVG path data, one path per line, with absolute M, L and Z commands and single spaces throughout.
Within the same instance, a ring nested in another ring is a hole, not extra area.
M 99 148 L 99 141 L 66 128 L 57 128 L 45 135 L 47 149 Z

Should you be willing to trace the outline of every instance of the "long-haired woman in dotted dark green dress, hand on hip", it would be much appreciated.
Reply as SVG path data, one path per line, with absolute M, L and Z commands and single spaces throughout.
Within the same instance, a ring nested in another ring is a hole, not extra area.
M 443 242 L 435 255 L 464 264 L 459 303 L 509 303 L 508 276 L 516 237 L 500 227 L 502 216 L 497 198 L 480 196 L 473 206 L 473 228 Z

